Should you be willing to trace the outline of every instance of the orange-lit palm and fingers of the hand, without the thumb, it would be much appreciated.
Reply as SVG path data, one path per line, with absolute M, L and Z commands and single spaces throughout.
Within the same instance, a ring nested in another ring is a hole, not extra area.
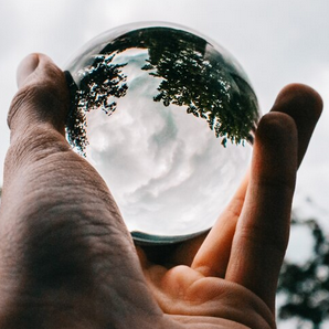
M 275 295 L 296 171 L 321 108 L 309 87 L 284 88 L 259 123 L 251 171 L 208 236 L 162 250 L 139 248 L 166 314 L 189 323 L 276 328 Z

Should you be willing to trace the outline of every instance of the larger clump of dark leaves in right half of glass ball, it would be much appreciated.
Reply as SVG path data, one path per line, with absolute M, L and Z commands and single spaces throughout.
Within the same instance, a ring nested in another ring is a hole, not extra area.
M 142 70 L 162 78 L 156 102 L 184 106 L 188 114 L 205 119 L 223 146 L 227 139 L 235 144 L 251 139 L 258 118 L 256 96 L 220 53 L 208 52 L 203 39 L 155 30 L 149 55 Z

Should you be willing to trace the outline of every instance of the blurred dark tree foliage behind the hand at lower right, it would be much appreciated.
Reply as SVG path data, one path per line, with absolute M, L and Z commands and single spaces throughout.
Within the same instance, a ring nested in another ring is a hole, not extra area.
M 299 319 L 300 329 L 306 322 L 320 329 L 329 319 L 329 237 L 314 219 L 294 219 L 293 225 L 308 227 L 314 240 L 312 256 L 304 265 L 284 263 L 278 294 L 284 294 L 286 301 L 279 308 L 278 317 Z

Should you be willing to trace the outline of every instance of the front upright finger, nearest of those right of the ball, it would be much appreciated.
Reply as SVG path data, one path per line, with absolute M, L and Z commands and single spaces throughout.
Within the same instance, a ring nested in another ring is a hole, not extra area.
M 296 172 L 294 120 L 279 113 L 264 116 L 256 132 L 250 184 L 225 278 L 255 293 L 270 309 L 288 242 Z

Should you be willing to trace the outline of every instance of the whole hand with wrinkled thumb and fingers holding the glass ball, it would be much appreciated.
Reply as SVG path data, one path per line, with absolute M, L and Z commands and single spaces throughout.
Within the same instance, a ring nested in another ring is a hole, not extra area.
M 0 210 L 0 328 L 273 329 L 296 171 L 320 96 L 289 85 L 212 231 L 135 247 L 103 179 L 64 136 L 64 75 L 42 54 L 18 71 Z

